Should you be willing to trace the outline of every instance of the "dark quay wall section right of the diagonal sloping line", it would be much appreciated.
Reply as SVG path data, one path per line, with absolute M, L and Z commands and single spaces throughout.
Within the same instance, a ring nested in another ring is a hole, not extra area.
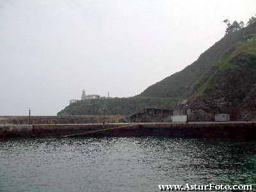
M 204 138 L 209 140 L 252 141 L 256 140 L 256 123 L 211 122 L 211 123 L 162 123 L 134 124 L 109 131 L 87 134 L 87 136 L 157 136 L 164 138 Z

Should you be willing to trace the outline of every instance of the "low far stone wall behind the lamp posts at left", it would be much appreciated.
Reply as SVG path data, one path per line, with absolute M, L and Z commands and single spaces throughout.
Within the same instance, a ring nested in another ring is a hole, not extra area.
M 122 122 L 121 115 L 106 115 L 106 123 Z M 31 124 L 102 124 L 103 115 L 31 116 Z M 26 125 L 29 116 L 0 116 L 1 125 Z

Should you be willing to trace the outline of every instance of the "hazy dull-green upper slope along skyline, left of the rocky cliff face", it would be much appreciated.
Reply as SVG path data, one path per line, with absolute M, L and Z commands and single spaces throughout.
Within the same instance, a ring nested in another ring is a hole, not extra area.
M 236 49 L 244 45 L 246 37 L 255 33 L 256 26 L 252 24 L 247 28 L 225 35 L 219 42 L 201 54 L 194 63 L 149 86 L 140 95 L 143 97 L 174 97 L 179 100 L 189 99 L 191 94 L 200 91 L 201 86 L 209 81 L 209 76 L 216 72 L 216 68 L 213 66 L 228 60 L 228 57 Z

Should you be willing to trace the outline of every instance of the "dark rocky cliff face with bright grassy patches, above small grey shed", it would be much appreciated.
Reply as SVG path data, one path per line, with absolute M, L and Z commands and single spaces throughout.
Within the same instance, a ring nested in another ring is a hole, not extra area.
M 255 95 L 252 88 L 256 83 L 256 41 L 237 42 L 209 71 L 200 77 L 205 81 L 196 83 L 198 89 L 189 102 L 208 113 L 230 113 L 234 119 L 243 118 L 241 108 L 252 101 L 248 93 Z M 250 113 L 250 109 L 244 111 Z

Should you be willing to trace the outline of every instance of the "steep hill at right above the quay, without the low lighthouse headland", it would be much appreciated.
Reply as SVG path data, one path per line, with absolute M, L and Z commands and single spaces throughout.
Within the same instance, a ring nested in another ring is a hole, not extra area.
M 225 35 L 184 70 L 147 88 L 141 96 L 188 100 L 205 120 L 214 113 L 255 118 L 256 24 Z

